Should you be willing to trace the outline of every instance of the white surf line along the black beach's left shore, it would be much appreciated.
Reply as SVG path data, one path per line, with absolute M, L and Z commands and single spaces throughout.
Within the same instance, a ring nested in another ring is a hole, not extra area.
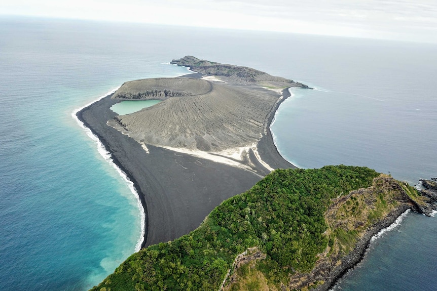
M 103 99 L 104 97 L 106 97 L 110 94 L 113 94 L 120 87 L 121 86 L 117 87 L 114 90 L 111 90 L 110 92 L 108 92 L 108 93 L 104 94 L 103 96 L 99 97 L 98 99 L 86 104 L 85 106 L 82 106 L 79 109 L 73 110 L 73 112 L 71 112 L 71 117 L 78 122 L 79 126 L 86 132 L 87 136 L 90 137 L 96 143 L 98 153 L 103 157 L 103 159 L 105 161 L 110 163 L 113 166 L 113 168 L 116 169 L 117 173 L 119 173 L 119 175 L 122 177 L 122 179 L 127 183 L 129 190 L 131 191 L 131 193 L 135 196 L 135 198 L 137 200 L 137 207 L 138 207 L 138 210 L 140 213 L 140 220 L 141 220 L 141 236 L 139 237 L 139 239 L 135 245 L 135 252 L 138 252 L 141 249 L 141 244 L 144 240 L 144 234 L 145 234 L 145 213 L 144 213 L 144 208 L 142 207 L 142 204 L 141 204 L 141 200 L 139 199 L 138 192 L 136 192 L 135 187 L 133 186 L 133 182 L 127 178 L 126 173 L 124 173 L 119 167 L 117 167 L 114 160 L 112 159 L 112 154 L 106 150 L 105 146 L 98 139 L 98 137 L 96 137 L 92 133 L 92 131 L 89 128 L 87 128 L 81 120 L 79 120 L 78 116 L 76 115 L 79 111 L 81 111 L 85 107 L 88 107 L 91 104 L 93 104 L 94 102 L 97 102 L 100 99 Z

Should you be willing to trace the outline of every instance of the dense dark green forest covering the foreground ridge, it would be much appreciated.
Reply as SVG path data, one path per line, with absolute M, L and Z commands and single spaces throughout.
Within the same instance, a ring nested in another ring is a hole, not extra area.
M 218 290 L 238 254 L 257 246 L 273 282 L 314 267 L 330 238 L 332 198 L 369 187 L 379 173 L 344 165 L 276 170 L 225 200 L 191 233 L 129 257 L 92 290 Z M 332 238 L 331 238 L 332 239 Z

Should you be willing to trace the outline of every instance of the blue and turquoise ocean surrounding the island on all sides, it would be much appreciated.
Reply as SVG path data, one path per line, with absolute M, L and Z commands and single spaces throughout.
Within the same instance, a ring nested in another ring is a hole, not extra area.
M 303 34 L 0 18 L 0 290 L 87 290 L 137 248 L 142 210 L 74 118 L 124 81 L 188 73 L 185 55 L 293 78 L 272 124 L 303 168 L 437 177 L 436 45 Z M 437 286 L 437 220 L 410 213 L 336 290 Z

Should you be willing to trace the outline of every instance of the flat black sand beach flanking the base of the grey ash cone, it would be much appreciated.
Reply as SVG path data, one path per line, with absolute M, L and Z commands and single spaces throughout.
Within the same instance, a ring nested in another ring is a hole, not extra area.
M 286 97 L 284 95 L 281 101 Z M 145 234 L 141 247 L 189 233 L 215 206 L 250 189 L 261 179 L 260 175 L 241 168 L 161 147 L 148 145 L 150 153 L 146 153 L 138 142 L 107 126 L 106 121 L 116 116 L 110 107 L 118 102 L 120 100 L 111 99 L 111 95 L 106 96 L 79 111 L 78 117 L 112 153 L 114 162 L 134 183 L 145 210 Z M 269 124 L 273 116 L 274 112 L 270 114 Z M 270 131 L 263 135 L 258 149 L 262 159 L 271 167 L 294 167 L 280 156 Z M 260 168 L 265 172 L 263 167 Z

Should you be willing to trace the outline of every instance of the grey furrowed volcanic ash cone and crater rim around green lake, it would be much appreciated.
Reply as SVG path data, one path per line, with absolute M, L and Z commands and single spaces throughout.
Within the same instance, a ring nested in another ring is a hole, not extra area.
M 108 123 L 140 143 L 218 152 L 256 143 L 279 97 L 256 86 L 204 79 L 136 80 L 112 98 L 163 101 Z

